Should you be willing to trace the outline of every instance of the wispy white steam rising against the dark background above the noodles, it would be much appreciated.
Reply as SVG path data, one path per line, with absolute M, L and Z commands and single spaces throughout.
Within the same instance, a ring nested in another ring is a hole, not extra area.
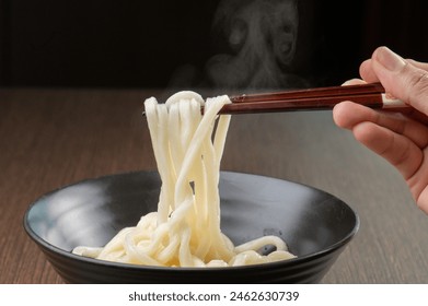
M 219 52 L 205 67 L 204 84 L 218 89 L 304 86 L 291 73 L 299 13 L 297 0 L 222 0 L 212 21 Z M 187 78 L 192 67 L 182 69 Z

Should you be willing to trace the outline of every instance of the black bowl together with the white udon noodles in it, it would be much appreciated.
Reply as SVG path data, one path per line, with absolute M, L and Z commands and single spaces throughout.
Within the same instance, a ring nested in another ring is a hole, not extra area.
M 78 183 L 28 209 L 26 232 L 67 282 L 321 280 L 357 232 L 358 216 L 306 186 L 221 173 L 230 116 L 217 114 L 227 103 L 193 92 L 165 104 L 147 99 L 159 174 Z

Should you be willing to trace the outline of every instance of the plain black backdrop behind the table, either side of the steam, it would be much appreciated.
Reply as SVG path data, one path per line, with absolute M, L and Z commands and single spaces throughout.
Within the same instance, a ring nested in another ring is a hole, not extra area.
M 216 52 L 218 2 L 0 0 L 0 86 L 169 86 Z M 296 73 L 339 84 L 380 45 L 428 61 L 427 3 L 300 0 Z

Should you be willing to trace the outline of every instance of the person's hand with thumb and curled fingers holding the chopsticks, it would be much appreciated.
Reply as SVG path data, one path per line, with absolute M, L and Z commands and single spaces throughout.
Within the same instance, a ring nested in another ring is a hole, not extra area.
M 395 166 L 417 205 L 428 213 L 428 63 L 403 59 L 380 47 L 361 63 L 360 75 L 362 80 L 348 84 L 381 82 L 386 93 L 413 110 L 392 114 L 343 102 L 333 109 L 334 121 Z

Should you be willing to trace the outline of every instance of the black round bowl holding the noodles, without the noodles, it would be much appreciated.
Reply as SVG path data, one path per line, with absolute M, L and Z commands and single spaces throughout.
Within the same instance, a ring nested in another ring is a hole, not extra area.
M 24 217 L 30 237 L 69 283 L 316 283 L 358 231 L 358 215 L 321 190 L 286 180 L 221 173 L 221 228 L 235 244 L 278 235 L 296 259 L 232 268 L 159 268 L 107 262 L 70 251 L 103 246 L 157 210 L 160 178 L 139 172 L 53 191 Z

